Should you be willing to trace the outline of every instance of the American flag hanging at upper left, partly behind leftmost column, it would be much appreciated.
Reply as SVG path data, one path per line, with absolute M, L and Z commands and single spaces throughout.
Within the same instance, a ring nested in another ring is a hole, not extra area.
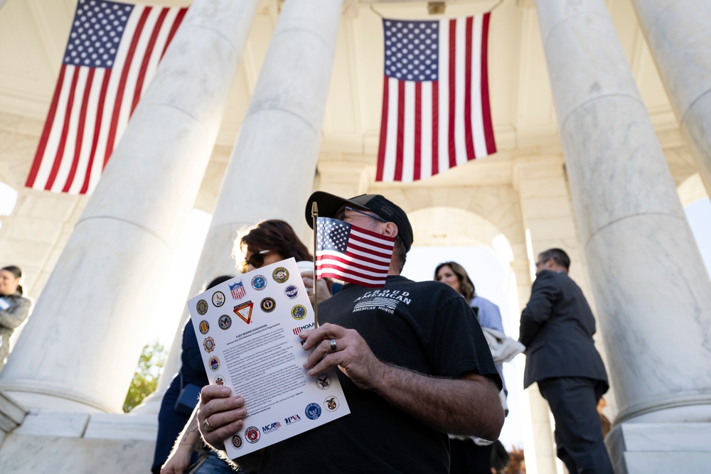
M 91 193 L 185 14 L 78 1 L 26 186 Z

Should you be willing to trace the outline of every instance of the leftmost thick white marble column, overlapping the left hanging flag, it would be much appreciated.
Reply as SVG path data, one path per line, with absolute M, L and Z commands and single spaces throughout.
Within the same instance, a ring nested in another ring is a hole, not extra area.
M 0 373 L 22 404 L 120 411 L 257 0 L 195 0 Z

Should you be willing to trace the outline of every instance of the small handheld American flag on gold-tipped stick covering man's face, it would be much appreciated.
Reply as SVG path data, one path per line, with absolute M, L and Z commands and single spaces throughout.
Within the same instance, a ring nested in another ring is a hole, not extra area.
M 316 278 L 385 286 L 395 239 L 330 217 L 316 218 Z

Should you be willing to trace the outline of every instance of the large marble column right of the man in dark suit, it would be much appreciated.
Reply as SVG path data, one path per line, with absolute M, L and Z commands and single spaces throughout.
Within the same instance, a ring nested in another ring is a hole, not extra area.
M 604 1 L 536 5 L 616 429 L 707 421 L 711 281 Z

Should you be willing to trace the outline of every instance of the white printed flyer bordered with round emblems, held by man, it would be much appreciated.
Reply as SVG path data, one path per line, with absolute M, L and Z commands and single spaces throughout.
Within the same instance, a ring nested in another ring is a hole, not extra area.
M 314 309 L 292 259 L 236 276 L 188 301 L 211 384 L 245 398 L 242 430 L 225 439 L 230 458 L 351 413 L 335 369 L 303 368 L 303 330 Z

